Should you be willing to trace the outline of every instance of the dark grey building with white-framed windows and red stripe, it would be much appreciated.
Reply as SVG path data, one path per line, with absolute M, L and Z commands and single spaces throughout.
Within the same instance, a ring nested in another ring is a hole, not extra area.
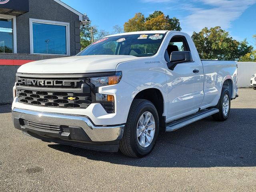
M 20 65 L 80 52 L 82 17 L 60 0 L 0 0 L 0 104 L 12 102 Z

